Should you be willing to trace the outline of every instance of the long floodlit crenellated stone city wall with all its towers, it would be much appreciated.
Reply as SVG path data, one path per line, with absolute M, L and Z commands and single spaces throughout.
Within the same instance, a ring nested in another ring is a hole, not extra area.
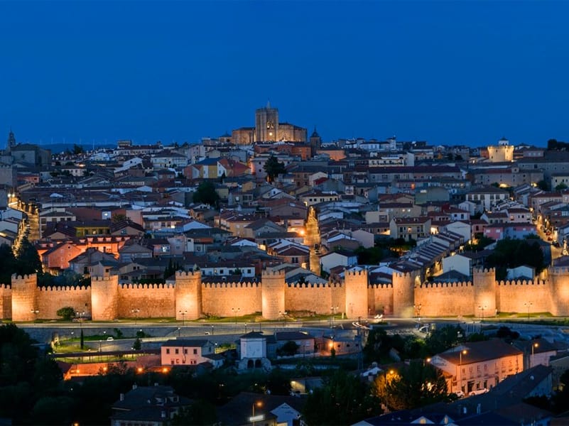
M 569 315 L 569 269 L 552 268 L 546 280 L 500 281 L 493 269 L 473 272 L 472 281 L 421 283 L 417 273 L 394 273 L 392 283 L 369 283 L 366 270 L 350 271 L 342 282 L 289 283 L 281 271 L 264 271 L 260 282 L 202 283 L 200 271 L 176 273 L 175 284 L 124 284 L 118 277 L 92 278 L 90 287 L 38 288 L 36 275 L 13 275 L 0 285 L 0 318 L 13 321 L 56 319 L 71 306 L 93 320 L 206 315 L 232 317 L 261 312 L 278 320 L 282 312 L 348 318 L 383 312 L 396 317 L 474 315 L 496 312 L 551 312 Z

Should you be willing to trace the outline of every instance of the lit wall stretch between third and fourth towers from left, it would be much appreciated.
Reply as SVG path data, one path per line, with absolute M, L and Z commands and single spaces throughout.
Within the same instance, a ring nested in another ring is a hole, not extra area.
M 261 283 L 205 283 L 202 284 L 204 315 L 231 317 L 261 312 Z

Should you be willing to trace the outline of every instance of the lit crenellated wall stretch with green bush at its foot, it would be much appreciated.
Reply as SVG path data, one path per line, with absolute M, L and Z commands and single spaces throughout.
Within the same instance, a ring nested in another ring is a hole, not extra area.
M 52 320 L 58 317 L 58 310 L 70 306 L 75 312 L 91 312 L 91 288 L 81 287 L 38 287 L 36 290 L 37 317 L 40 320 Z

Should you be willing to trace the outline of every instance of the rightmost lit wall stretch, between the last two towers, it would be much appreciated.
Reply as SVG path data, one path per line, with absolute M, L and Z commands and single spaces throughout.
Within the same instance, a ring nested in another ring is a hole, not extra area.
M 551 312 L 551 283 L 543 280 L 500 281 L 496 305 L 498 312 Z

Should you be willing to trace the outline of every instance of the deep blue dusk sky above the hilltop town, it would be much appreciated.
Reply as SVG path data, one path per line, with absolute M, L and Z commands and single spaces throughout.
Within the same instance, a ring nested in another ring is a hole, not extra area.
M 325 141 L 569 140 L 569 2 L 0 1 L 0 146 L 197 141 L 281 121 Z M 4 136 L 3 136 L 4 135 Z

